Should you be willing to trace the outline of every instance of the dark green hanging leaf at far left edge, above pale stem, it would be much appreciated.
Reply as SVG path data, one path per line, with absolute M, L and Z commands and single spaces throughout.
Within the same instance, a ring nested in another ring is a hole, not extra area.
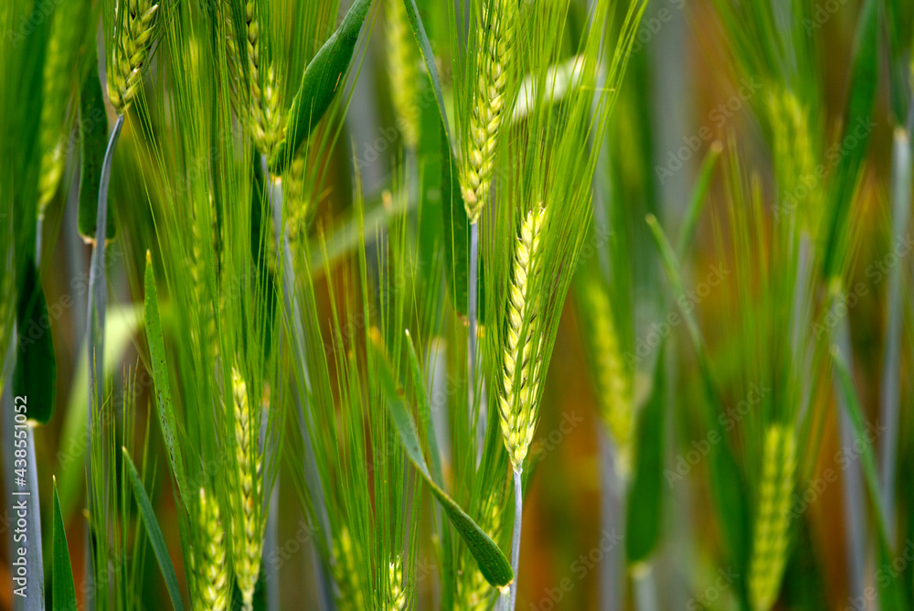
M 28 419 L 48 423 L 54 413 L 57 360 L 48 317 L 48 303 L 35 263 L 28 261 L 19 285 L 16 328 L 16 370 L 13 393 L 28 397 Z

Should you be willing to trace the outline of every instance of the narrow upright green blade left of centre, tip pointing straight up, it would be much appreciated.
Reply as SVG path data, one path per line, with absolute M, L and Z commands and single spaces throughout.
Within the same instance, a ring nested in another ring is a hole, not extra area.
M 177 481 L 178 495 L 185 508 L 189 507 L 187 496 L 187 479 L 184 462 L 178 454 L 175 424 L 175 407 L 171 398 L 171 385 L 168 381 L 168 368 L 165 366 L 165 338 L 162 335 L 162 319 L 159 317 L 159 301 L 155 291 L 155 274 L 153 272 L 152 254 L 146 251 L 146 339 L 149 341 L 149 357 L 152 360 L 153 380 L 155 382 L 155 406 L 158 408 L 159 423 L 168 449 L 168 462 Z

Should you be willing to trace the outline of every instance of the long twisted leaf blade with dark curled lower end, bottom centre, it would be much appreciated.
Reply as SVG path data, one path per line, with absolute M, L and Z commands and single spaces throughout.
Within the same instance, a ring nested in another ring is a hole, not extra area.
M 399 388 L 393 368 L 390 366 L 385 354 L 385 349 L 382 345 L 379 345 L 381 338 L 375 334 L 372 340 L 373 348 L 377 350 L 377 360 L 380 363 L 378 374 L 383 391 L 387 396 L 390 421 L 397 429 L 400 442 L 409 457 L 409 462 L 416 467 L 416 470 L 419 471 L 425 483 L 429 486 L 432 495 L 441 503 L 441 507 L 448 514 L 448 518 L 454 528 L 460 533 L 470 552 L 473 553 L 476 562 L 479 563 L 479 570 L 483 573 L 485 580 L 496 587 L 510 584 L 514 580 L 514 572 L 511 570 L 511 564 L 508 563 L 505 553 L 431 478 L 429 467 L 426 466 L 425 457 L 422 455 L 422 446 L 420 445 L 419 434 L 416 432 L 416 423 L 413 422 L 406 403 L 403 401 L 403 391 Z

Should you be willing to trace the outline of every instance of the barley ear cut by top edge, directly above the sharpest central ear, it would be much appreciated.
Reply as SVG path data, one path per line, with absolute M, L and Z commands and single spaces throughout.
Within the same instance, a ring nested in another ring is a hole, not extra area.
M 460 186 L 470 222 L 482 213 L 491 188 L 498 129 L 505 113 L 505 83 L 514 32 L 515 3 L 494 0 L 483 5 L 482 27 L 476 50 L 478 78 L 470 100 L 470 133 L 462 138 Z

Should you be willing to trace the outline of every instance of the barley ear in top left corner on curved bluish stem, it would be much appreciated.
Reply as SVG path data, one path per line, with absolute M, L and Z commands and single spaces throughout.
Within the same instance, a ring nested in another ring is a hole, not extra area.
M 160 12 L 159 4 L 152 0 L 127 0 L 115 11 L 125 6 L 127 15 L 117 16 L 120 27 L 116 28 L 112 64 L 108 70 L 108 97 L 119 115 L 127 113 L 143 81 Z

